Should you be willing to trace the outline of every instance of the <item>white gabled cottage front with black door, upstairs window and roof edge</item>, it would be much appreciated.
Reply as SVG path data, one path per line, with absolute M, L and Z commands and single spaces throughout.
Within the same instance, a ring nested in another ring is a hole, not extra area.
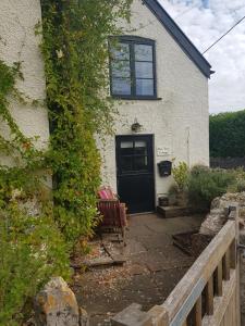
M 175 159 L 209 165 L 210 64 L 157 0 L 134 0 L 133 30 L 111 49 L 110 91 L 122 102 L 115 136 L 101 147 L 102 178 L 130 213 L 150 212 L 168 192 Z M 168 171 L 167 171 L 168 174 Z

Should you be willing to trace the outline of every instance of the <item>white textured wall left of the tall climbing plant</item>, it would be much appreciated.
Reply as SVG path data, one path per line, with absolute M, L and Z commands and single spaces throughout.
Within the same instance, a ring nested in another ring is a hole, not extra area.
M 46 98 L 40 37 L 35 36 L 35 25 L 40 20 L 40 0 L 0 1 L 0 60 L 9 65 L 22 62 L 24 80 L 17 80 L 17 88 L 29 98 L 27 105 L 11 100 L 11 112 L 26 136 L 39 136 L 38 148 L 46 147 L 49 138 L 47 109 L 32 105 L 33 100 Z M 3 123 L 0 131 L 8 135 Z

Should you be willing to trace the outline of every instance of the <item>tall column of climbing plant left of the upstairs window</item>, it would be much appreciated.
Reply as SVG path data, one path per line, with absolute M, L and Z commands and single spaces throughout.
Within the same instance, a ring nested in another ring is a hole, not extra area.
M 53 172 L 54 216 L 69 240 L 96 224 L 100 155 L 95 135 L 111 133 L 115 114 L 108 98 L 108 37 L 121 34 L 131 0 L 41 0 L 42 53 Z

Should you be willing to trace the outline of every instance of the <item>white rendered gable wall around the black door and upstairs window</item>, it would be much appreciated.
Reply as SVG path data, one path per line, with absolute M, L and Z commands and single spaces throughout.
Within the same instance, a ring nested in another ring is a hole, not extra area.
M 142 134 L 155 135 L 157 199 L 172 184 L 172 177 L 159 177 L 158 162 L 175 158 L 189 166 L 209 165 L 208 79 L 140 0 L 134 0 L 132 12 L 131 26 L 125 28 L 136 30 L 126 34 L 156 40 L 157 88 L 161 100 L 124 101 L 119 106 L 115 134 L 131 135 L 131 125 L 137 118 L 143 125 Z M 158 148 L 168 153 L 158 156 Z M 108 138 L 101 153 L 103 184 L 117 190 L 114 137 Z

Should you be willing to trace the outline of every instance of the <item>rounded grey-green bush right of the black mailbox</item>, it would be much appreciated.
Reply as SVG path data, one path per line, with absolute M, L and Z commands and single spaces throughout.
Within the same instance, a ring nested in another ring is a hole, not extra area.
M 226 192 L 234 184 L 234 172 L 194 166 L 187 183 L 187 196 L 192 205 L 209 209 L 211 201 Z

